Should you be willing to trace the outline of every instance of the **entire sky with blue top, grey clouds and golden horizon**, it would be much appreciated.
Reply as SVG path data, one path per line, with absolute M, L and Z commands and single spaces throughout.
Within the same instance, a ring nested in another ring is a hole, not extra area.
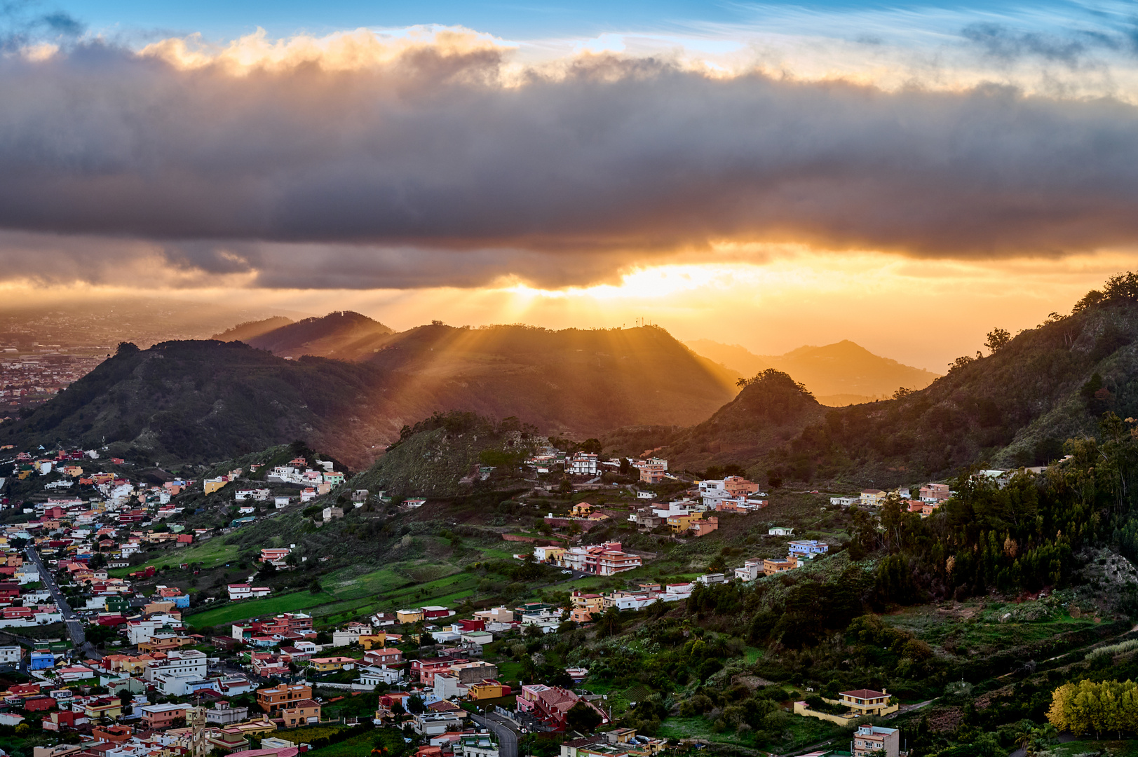
M 942 372 L 1138 268 L 1129 2 L 0 0 L 0 297 Z

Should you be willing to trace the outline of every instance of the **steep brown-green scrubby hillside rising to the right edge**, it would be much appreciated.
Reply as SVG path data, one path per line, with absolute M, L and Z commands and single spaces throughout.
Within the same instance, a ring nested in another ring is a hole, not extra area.
M 1104 413 L 1138 418 L 1138 275 L 1112 280 L 1071 315 L 1053 315 L 993 354 L 958 359 L 924 389 L 868 404 L 807 408 L 775 430 L 774 444 L 767 420 L 742 414 L 742 428 L 724 425 L 740 414 L 734 409 L 745 394 L 693 429 L 621 429 L 610 436 L 659 446 L 657 454 L 675 468 L 736 463 L 787 483 L 851 488 L 943 479 L 974 464 L 1046 464 L 1063 455 L 1067 439 L 1100 437 Z M 1119 421 L 1110 433 L 1130 428 L 1132 421 Z

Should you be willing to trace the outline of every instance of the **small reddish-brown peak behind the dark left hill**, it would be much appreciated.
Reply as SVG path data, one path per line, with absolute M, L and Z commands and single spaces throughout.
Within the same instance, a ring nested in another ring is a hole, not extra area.
M 371 354 L 393 334 L 394 330 L 366 315 L 352 311 L 337 311 L 320 318 L 306 318 L 296 323 L 282 324 L 245 342 L 281 357 L 314 355 L 358 360 Z

